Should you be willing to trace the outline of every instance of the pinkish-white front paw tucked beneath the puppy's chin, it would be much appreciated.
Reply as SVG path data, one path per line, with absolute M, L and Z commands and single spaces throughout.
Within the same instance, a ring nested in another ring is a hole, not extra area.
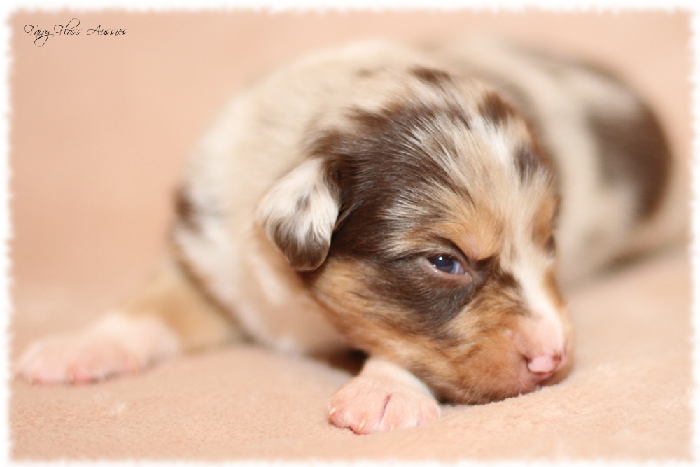
M 369 358 L 360 374 L 330 401 L 330 421 L 358 434 L 420 426 L 440 417 L 440 406 L 414 375 L 380 358 Z

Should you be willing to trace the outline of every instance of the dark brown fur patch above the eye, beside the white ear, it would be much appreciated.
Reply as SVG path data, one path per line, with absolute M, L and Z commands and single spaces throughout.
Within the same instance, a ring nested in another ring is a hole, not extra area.
M 311 153 L 327 160 L 340 190 L 332 249 L 374 256 L 387 249 L 388 232 L 439 221 L 447 207 L 426 199 L 435 186 L 469 202 L 468 189 L 456 183 L 440 161 L 461 157 L 442 131 L 444 122 L 456 131 L 466 130 L 468 116 L 458 106 L 395 104 L 380 113 L 354 110 L 351 120 L 354 131 L 328 130 L 311 146 Z M 414 215 L 403 216 L 397 225 L 395 212 L 400 209 Z

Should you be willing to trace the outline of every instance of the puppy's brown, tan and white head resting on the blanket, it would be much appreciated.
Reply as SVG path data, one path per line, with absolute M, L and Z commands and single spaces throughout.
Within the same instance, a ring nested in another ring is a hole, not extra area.
M 310 130 L 308 158 L 260 202 L 269 237 L 353 344 L 439 397 L 483 403 L 561 377 L 559 198 L 528 125 L 477 81 L 358 76 L 393 92 Z

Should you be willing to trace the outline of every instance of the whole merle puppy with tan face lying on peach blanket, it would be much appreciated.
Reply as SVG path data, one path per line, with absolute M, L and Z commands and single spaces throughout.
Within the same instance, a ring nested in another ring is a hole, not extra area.
M 154 279 L 18 372 L 87 382 L 244 337 L 350 347 L 368 358 L 329 418 L 356 433 L 528 393 L 573 360 L 560 281 L 672 236 L 671 162 L 650 109 L 579 62 L 477 41 L 313 55 L 204 138 Z

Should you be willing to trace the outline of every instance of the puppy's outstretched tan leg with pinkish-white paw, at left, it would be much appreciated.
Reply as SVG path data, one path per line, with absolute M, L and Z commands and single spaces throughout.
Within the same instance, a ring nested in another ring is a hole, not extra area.
M 17 372 L 31 382 L 89 382 L 221 344 L 237 333 L 235 323 L 168 260 L 132 300 L 83 333 L 33 344 Z

